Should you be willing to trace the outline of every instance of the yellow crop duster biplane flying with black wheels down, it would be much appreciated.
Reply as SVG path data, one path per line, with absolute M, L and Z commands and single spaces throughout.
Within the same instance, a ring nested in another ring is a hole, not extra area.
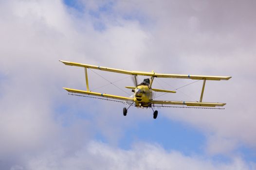
M 67 90 L 70 93 L 80 93 L 80 94 L 86 94 L 86 95 L 93 95 L 93 96 L 99 96 L 103 98 L 111 98 L 115 100 L 121 100 L 121 101 L 127 101 L 131 102 L 129 107 L 131 105 L 134 105 L 136 107 L 146 107 L 146 108 L 152 108 L 153 110 L 153 118 L 156 119 L 158 115 L 158 111 L 153 109 L 155 106 L 164 106 L 164 105 L 185 105 L 185 106 L 197 106 L 197 107 L 216 107 L 216 106 L 224 106 L 226 103 L 219 103 L 219 102 L 202 102 L 202 96 L 204 91 L 204 86 L 206 80 L 229 80 L 231 76 L 202 76 L 202 75 L 181 75 L 181 74 L 159 74 L 154 71 L 152 72 L 144 72 L 144 71 L 128 71 L 128 70 L 122 70 L 122 69 L 116 69 L 116 68 L 106 68 L 101 66 L 93 66 L 88 64 L 81 64 L 81 63 L 73 63 L 68 61 L 62 61 L 59 60 L 65 65 L 69 66 L 77 66 L 85 68 L 85 77 L 86 77 L 86 87 L 87 90 L 77 90 L 72 88 L 66 88 L 63 87 L 65 90 Z M 105 94 L 105 93 L 97 93 L 92 92 L 89 90 L 89 83 L 88 83 L 88 75 L 87 75 L 87 68 L 91 69 L 98 69 L 102 71 L 110 71 L 115 73 L 121 73 L 121 74 L 129 74 L 134 76 L 135 86 L 126 86 L 126 88 L 132 89 L 132 92 L 134 92 L 133 97 L 125 97 L 125 96 L 116 96 L 111 94 Z M 137 84 L 137 76 L 149 76 L 150 78 L 144 79 L 144 81 L 141 84 Z M 181 78 L 181 79 L 193 79 L 193 80 L 203 80 L 202 90 L 201 90 L 201 97 L 200 102 L 185 102 L 185 101 L 160 101 L 160 100 L 153 100 L 152 98 L 152 91 L 156 92 L 165 92 L 165 93 L 176 93 L 176 91 L 172 90 L 164 90 L 164 89 L 156 89 L 152 88 L 153 80 L 155 77 L 158 78 Z M 156 105 L 155 105 L 156 104 Z M 157 105 L 158 104 L 158 105 Z M 128 108 L 129 108 L 128 107 Z M 128 108 L 123 108 L 123 114 L 124 116 L 127 115 Z

